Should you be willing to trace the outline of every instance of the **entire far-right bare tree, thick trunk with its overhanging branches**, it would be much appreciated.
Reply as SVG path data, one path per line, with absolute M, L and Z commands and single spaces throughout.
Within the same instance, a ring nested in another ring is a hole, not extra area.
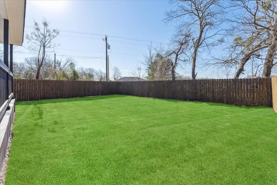
M 267 54 L 263 64 L 263 77 L 270 77 L 271 69 L 276 64 L 274 58 L 277 50 L 277 2 L 275 0 L 239 0 L 232 2 L 235 9 L 242 9 L 242 15 L 237 15 L 234 22 L 266 32 Z

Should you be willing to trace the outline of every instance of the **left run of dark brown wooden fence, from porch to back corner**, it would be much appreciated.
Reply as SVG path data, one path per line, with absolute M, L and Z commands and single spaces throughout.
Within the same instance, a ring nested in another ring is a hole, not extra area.
M 114 94 L 115 83 L 99 81 L 14 79 L 15 101 Z

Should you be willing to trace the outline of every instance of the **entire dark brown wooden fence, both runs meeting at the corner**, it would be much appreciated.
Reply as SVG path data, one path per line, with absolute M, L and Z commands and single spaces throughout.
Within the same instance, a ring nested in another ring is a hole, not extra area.
M 16 101 L 109 94 L 272 107 L 271 78 L 131 82 L 14 80 Z

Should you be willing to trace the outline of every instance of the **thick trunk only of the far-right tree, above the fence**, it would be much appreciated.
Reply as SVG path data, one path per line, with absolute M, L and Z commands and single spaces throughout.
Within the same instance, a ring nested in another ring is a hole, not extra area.
M 272 31 L 271 41 L 268 46 L 266 60 L 263 65 L 263 78 L 270 78 L 273 60 L 277 50 L 277 32 Z

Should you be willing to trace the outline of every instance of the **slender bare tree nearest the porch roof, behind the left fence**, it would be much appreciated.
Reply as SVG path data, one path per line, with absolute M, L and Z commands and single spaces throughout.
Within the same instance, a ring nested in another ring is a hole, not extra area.
M 43 28 L 40 28 L 39 24 L 34 21 L 33 32 L 31 34 L 26 33 L 27 43 L 30 44 L 28 49 L 36 55 L 37 71 L 35 79 L 39 79 L 40 69 L 46 59 L 47 52 L 56 47 L 56 44 L 52 41 L 59 35 L 59 30 L 50 30 L 48 28 L 49 23 L 43 18 Z

